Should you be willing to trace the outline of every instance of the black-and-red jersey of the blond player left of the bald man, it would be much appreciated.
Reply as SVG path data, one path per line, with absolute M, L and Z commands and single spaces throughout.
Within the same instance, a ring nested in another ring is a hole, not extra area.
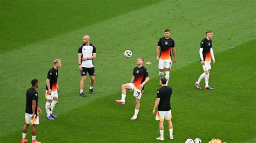
M 56 91 L 57 90 L 57 81 L 58 81 L 58 69 L 51 68 L 48 71 L 47 78 L 50 80 L 51 91 Z M 48 90 L 47 85 L 46 85 L 46 90 Z

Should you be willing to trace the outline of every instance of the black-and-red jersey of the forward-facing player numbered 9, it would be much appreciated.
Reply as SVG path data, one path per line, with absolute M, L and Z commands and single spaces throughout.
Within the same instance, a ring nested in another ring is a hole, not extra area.
M 171 58 L 171 48 L 175 47 L 174 40 L 169 37 L 169 39 L 165 39 L 162 37 L 159 39 L 157 46 L 160 47 L 160 59 L 162 60 L 170 60 Z

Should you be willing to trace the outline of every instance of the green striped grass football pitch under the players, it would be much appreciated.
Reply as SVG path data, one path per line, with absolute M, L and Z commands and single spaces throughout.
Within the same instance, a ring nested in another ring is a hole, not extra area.
M 165 121 L 163 142 L 256 142 L 256 1 L 1 1 L 0 8 L 0 142 L 21 141 L 25 93 L 33 78 L 39 80 L 43 111 L 38 141 L 157 142 L 159 126 L 152 115 L 160 88 L 156 46 L 165 28 L 176 42 L 177 62 L 169 82 L 174 139 L 169 140 Z M 212 91 L 194 86 L 203 73 L 199 46 L 207 29 L 213 30 L 216 60 L 209 81 Z M 85 34 L 97 48 L 95 95 L 89 94 L 87 78 L 87 97 L 80 97 L 77 55 Z M 132 51 L 131 58 L 124 57 L 126 49 Z M 121 98 L 121 85 L 131 81 L 138 56 L 152 65 L 144 64 L 150 81 L 138 119 L 131 121 L 133 92 L 127 92 L 125 105 L 114 100 Z M 44 94 L 55 59 L 62 60 L 62 68 L 58 118 L 51 121 L 46 119 Z

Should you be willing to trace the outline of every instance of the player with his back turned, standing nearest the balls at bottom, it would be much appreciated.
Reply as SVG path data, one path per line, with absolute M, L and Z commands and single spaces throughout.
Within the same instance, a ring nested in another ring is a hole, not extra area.
M 167 79 L 165 77 L 161 77 L 160 85 L 161 88 L 157 90 L 157 100 L 154 104 L 153 108 L 153 115 L 157 111 L 156 120 L 159 120 L 159 130 L 160 130 L 160 137 L 157 140 L 164 140 L 164 119 L 168 121 L 169 131 L 170 131 L 170 139 L 173 139 L 172 135 L 172 111 L 171 111 L 171 95 L 172 95 L 172 88 L 166 85 Z

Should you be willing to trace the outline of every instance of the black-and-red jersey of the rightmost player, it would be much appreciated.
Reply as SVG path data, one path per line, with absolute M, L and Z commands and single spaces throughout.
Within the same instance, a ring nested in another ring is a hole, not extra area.
M 212 40 L 207 38 L 201 40 L 200 48 L 203 48 L 203 58 L 206 62 L 211 62 Z

